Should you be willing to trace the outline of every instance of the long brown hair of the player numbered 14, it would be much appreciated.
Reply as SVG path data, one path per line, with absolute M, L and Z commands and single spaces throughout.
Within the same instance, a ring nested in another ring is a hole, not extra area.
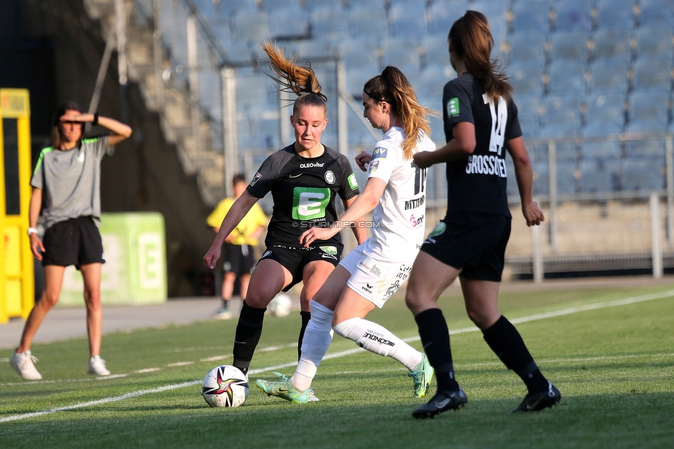
M 463 59 L 465 70 L 479 79 L 489 97 L 510 99 L 513 89 L 508 77 L 501 71 L 498 62 L 490 59 L 494 39 L 485 15 L 466 11 L 452 25 L 448 39 L 452 41 L 456 55 Z

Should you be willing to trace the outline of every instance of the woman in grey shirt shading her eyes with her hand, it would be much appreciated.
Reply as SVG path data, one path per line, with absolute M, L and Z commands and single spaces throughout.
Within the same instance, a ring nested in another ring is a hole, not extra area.
M 109 136 L 85 139 L 84 124 L 108 128 Z M 101 235 L 101 160 L 110 146 L 131 135 L 131 128 L 108 117 L 86 114 L 75 102 L 68 102 L 52 123 L 52 146 L 43 149 L 30 180 L 28 236 L 30 248 L 44 268 L 44 292 L 35 304 L 21 343 L 10 365 L 23 379 L 42 379 L 35 369 L 30 343 L 45 315 L 59 300 L 64 270 L 75 265 L 84 277 L 86 327 L 89 336 L 88 374 L 107 375 L 100 357 L 103 312 L 101 309 L 101 265 L 105 262 Z M 37 218 L 42 213 L 46 229 L 37 236 Z

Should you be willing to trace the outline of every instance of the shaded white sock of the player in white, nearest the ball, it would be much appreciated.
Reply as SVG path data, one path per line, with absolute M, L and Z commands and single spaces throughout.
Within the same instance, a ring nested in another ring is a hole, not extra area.
M 295 374 L 290 378 L 298 391 L 307 391 L 311 388 L 311 381 L 316 376 L 318 365 L 332 341 L 332 315 L 335 312 L 316 303 L 313 299 L 309 304 L 311 305 L 311 320 L 302 338 L 302 356 L 295 369 Z

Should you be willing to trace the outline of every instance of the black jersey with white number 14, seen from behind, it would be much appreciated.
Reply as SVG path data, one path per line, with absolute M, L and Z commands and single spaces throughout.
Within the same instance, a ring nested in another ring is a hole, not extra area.
M 452 79 L 443 90 L 443 123 L 447 142 L 452 125 L 475 125 L 472 155 L 447 162 L 447 213 L 497 213 L 510 217 L 505 184 L 508 140 L 522 135 L 517 106 L 503 98 L 490 101 L 480 82 L 470 73 Z

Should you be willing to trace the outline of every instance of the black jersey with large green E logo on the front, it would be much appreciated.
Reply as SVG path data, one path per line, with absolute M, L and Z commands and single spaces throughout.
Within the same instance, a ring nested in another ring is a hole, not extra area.
M 349 200 L 358 195 L 356 176 L 345 155 L 325 147 L 318 157 L 302 157 L 294 144 L 267 157 L 247 187 L 248 193 L 262 198 L 271 191 L 273 213 L 264 243 L 299 247 L 299 237 L 310 227 L 329 226 L 337 220 L 335 196 Z M 339 233 L 330 240 L 341 243 Z

